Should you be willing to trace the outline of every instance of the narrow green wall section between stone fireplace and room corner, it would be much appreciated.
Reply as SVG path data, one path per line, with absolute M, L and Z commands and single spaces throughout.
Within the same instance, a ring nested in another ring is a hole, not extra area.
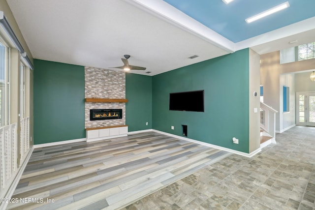
M 128 131 L 152 129 L 152 77 L 126 73 L 126 98 Z

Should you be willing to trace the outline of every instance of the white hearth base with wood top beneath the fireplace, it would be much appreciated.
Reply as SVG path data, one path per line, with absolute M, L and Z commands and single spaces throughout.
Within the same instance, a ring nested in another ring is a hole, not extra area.
M 86 128 L 87 142 L 124 137 L 128 134 L 127 125 Z

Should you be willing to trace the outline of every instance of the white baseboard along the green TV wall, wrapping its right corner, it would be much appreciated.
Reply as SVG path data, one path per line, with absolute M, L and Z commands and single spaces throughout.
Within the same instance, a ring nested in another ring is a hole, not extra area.
M 242 152 L 242 151 L 232 150 L 232 149 L 220 147 L 220 146 L 217 146 L 217 145 L 213 145 L 213 144 L 209 144 L 209 143 L 206 143 L 206 142 L 197 141 L 197 140 L 194 140 L 194 139 L 189 139 L 189 138 L 186 138 L 186 137 L 183 137 L 183 136 L 177 136 L 177 135 L 174 135 L 174 134 L 166 133 L 166 132 L 155 130 L 155 129 L 152 129 L 152 131 L 155 131 L 157 133 L 161 133 L 161 134 L 164 134 L 164 135 L 167 135 L 167 136 L 172 136 L 172 137 L 175 137 L 175 138 L 183 139 L 183 140 L 186 140 L 186 141 L 189 141 L 189 142 L 193 142 L 193 143 L 196 143 L 196 144 L 199 144 L 199 145 L 204 145 L 204 146 L 207 146 L 207 147 L 228 151 L 228 152 L 231 152 L 231 153 L 234 153 L 234 154 L 239 154 L 239 155 L 246 156 L 246 157 L 252 157 L 255 154 L 257 154 L 259 151 L 261 151 L 261 149 L 258 148 L 257 150 L 254 150 L 251 153 L 245 153 L 245 152 Z

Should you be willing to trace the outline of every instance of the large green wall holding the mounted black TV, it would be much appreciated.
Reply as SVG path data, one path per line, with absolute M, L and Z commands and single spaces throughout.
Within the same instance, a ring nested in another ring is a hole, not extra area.
M 170 92 L 191 90 L 204 90 L 205 112 L 169 110 Z M 182 136 L 185 124 L 189 139 L 248 153 L 249 49 L 154 76 L 152 102 L 153 129 Z

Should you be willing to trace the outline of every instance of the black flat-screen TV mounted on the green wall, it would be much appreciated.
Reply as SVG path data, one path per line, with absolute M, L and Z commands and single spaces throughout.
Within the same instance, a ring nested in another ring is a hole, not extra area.
M 204 112 L 204 90 L 169 93 L 169 110 Z

